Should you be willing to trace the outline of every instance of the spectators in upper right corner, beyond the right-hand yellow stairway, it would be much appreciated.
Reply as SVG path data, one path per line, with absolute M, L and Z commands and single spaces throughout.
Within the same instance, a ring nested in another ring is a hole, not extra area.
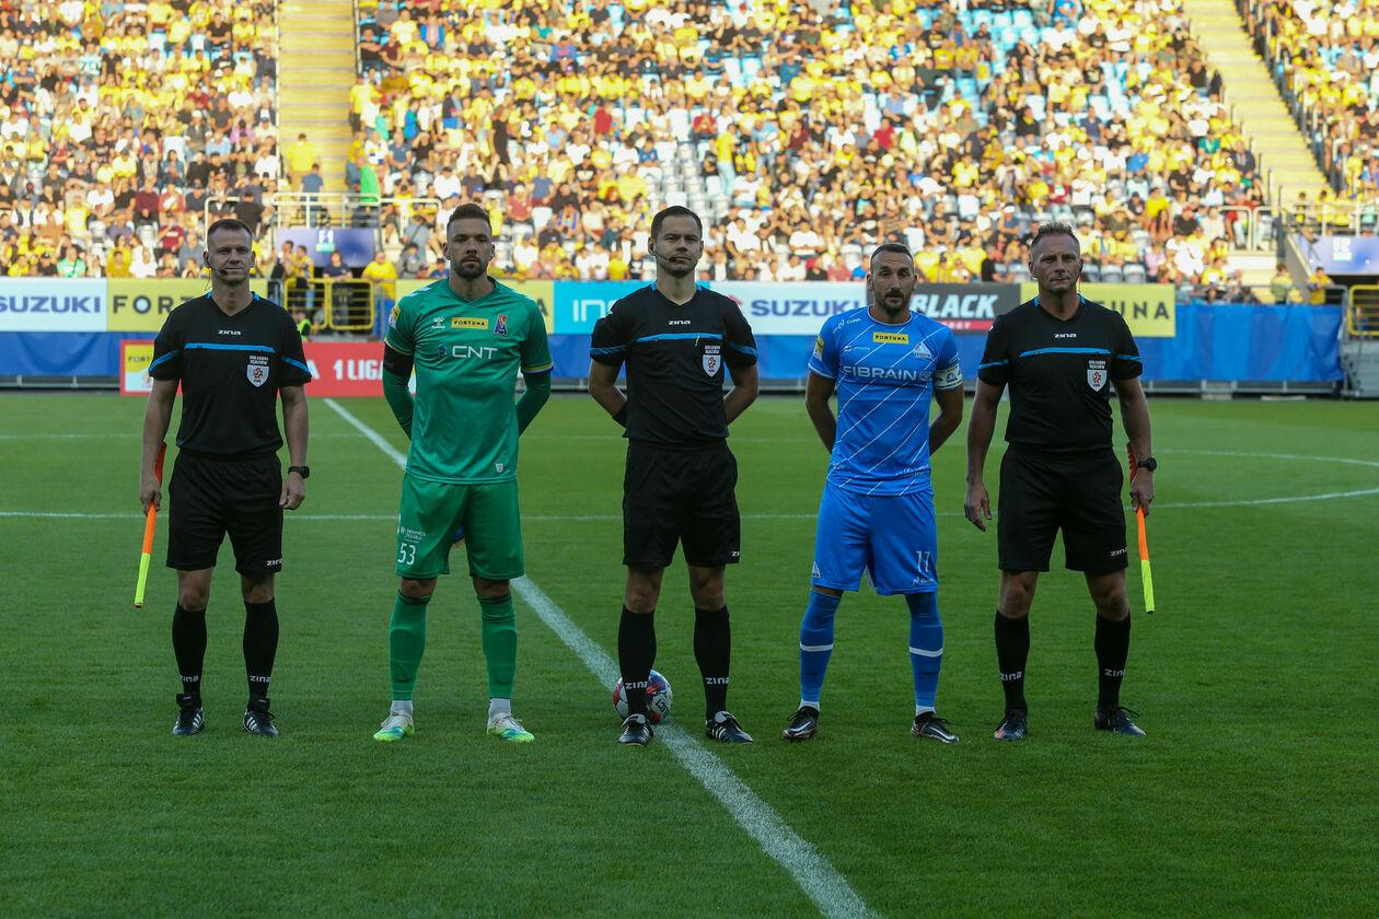
M 1379 201 L 1379 3 L 1252 0 L 1241 11 L 1336 192 Z

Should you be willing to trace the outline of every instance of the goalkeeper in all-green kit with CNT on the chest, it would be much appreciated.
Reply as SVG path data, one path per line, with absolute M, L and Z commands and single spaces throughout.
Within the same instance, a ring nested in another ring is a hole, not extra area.
M 523 575 L 517 435 L 550 398 L 550 346 L 531 298 L 488 277 L 494 234 L 477 204 L 455 208 L 443 244 L 450 274 L 393 307 L 383 395 L 412 445 L 397 521 L 401 583 L 387 632 L 393 704 L 374 740 L 411 734 L 412 690 L 426 650 L 426 605 L 463 532 L 483 615 L 488 733 L 530 741 L 513 718 L 517 627 L 509 581 Z M 416 371 L 416 398 L 407 389 Z M 517 372 L 527 383 L 513 400 Z

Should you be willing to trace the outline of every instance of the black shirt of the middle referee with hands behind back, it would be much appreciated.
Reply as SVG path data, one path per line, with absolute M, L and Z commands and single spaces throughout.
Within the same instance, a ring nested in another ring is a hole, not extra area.
M 627 366 L 627 437 L 698 446 L 728 437 L 723 365 L 752 366 L 757 340 L 738 304 L 709 288 L 677 304 L 648 285 L 594 325 L 590 357 Z

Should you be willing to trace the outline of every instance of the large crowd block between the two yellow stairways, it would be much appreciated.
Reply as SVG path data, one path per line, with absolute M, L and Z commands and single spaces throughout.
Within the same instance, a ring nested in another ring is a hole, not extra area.
M 883 238 L 1023 277 L 1058 218 L 1089 277 L 1211 280 L 1265 187 L 1179 3 L 1031 6 L 364 3 L 350 117 L 383 194 L 487 196 L 528 277 L 634 273 L 665 201 L 713 277 L 848 278 Z

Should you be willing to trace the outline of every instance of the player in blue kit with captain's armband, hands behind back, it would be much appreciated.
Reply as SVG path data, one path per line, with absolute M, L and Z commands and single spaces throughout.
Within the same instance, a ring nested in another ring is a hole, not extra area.
M 910 311 L 914 282 L 910 251 L 878 245 L 866 278 L 870 306 L 829 318 L 809 358 L 804 401 L 830 457 L 800 623 L 800 708 L 782 734 L 790 741 L 819 732 L 833 619 L 863 570 L 878 594 L 902 594 L 910 609 L 912 733 L 957 741 L 934 710 L 943 624 L 929 456 L 963 420 L 963 371 L 953 332 Z M 929 423 L 935 400 L 939 415 Z

